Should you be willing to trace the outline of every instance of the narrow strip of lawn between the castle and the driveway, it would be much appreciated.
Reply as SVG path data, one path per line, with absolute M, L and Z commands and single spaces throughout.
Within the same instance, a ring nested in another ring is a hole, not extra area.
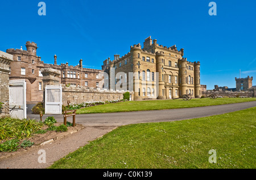
M 183 101 L 183 99 L 152 100 L 152 101 L 126 101 L 119 103 L 92 106 L 77 110 L 77 114 L 104 113 L 104 112 L 125 112 L 125 111 L 144 111 L 144 110 L 164 110 L 172 108 L 187 108 L 200 106 L 213 106 L 220 104 L 240 103 L 256 101 L 256 98 L 202 98 Z

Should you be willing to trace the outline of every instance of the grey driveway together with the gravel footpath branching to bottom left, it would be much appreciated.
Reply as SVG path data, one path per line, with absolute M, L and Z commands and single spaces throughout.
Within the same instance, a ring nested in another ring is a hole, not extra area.
M 67 156 L 68 153 L 75 151 L 80 146 L 84 146 L 88 141 L 97 139 L 97 137 L 112 131 L 112 129 L 119 125 L 200 118 L 243 110 L 250 107 L 256 107 L 256 101 L 173 110 L 77 115 L 76 122 L 85 125 L 84 129 L 73 133 L 64 139 L 55 140 L 52 144 L 31 148 L 27 152 L 17 154 L 14 157 L 0 158 L 0 168 L 47 168 L 53 164 L 53 162 Z M 51 115 L 45 115 L 44 119 L 47 116 Z M 54 116 L 58 122 L 63 122 L 63 115 Z M 40 149 L 44 149 L 46 151 L 46 163 L 38 162 L 38 158 L 40 156 L 40 154 L 38 154 L 38 150 Z

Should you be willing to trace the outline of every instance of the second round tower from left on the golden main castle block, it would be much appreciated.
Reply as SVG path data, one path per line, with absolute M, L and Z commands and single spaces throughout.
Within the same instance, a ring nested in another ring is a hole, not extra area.
M 164 98 L 164 73 L 163 73 L 163 66 L 164 66 L 164 52 L 156 52 L 156 72 L 158 72 L 158 97 L 157 99 L 165 99 Z

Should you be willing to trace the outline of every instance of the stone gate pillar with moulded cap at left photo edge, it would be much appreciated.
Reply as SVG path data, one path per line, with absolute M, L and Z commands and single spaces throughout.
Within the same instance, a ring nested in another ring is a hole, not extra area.
M 9 76 L 13 55 L 0 51 L 0 116 L 9 115 Z

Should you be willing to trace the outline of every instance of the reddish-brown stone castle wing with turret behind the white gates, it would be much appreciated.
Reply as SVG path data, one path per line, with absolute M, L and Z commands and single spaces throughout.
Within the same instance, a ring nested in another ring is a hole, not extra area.
M 69 66 L 66 64 L 57 65 L 57 56 L 54 57 L 54 64 L 45 64 L 41 61 L 41 57 L 37 56 L 38 45 L 34 42 L 26 42 L 27 50 L 7 49 L 6 52 L 13 55 L 13 63 L 11 64 L 10 79 L 26 79 L 27 82 L 27 103 L 37 103 L 43 101 L 43 87 L 46 78 L 43 77 L 44 69 L 55 69 L 59 72 L 56 81 L 64 85 L 73 87 L 102 87 L 102 70 L 88 69 L 82 67 L 82 60 L 77 66 Z M 45 73 L 46 76 L 49 73 Z M 56 74 L 55 74 L 56 76 Z M 49 83 L 51 84 L 51 83 Z

